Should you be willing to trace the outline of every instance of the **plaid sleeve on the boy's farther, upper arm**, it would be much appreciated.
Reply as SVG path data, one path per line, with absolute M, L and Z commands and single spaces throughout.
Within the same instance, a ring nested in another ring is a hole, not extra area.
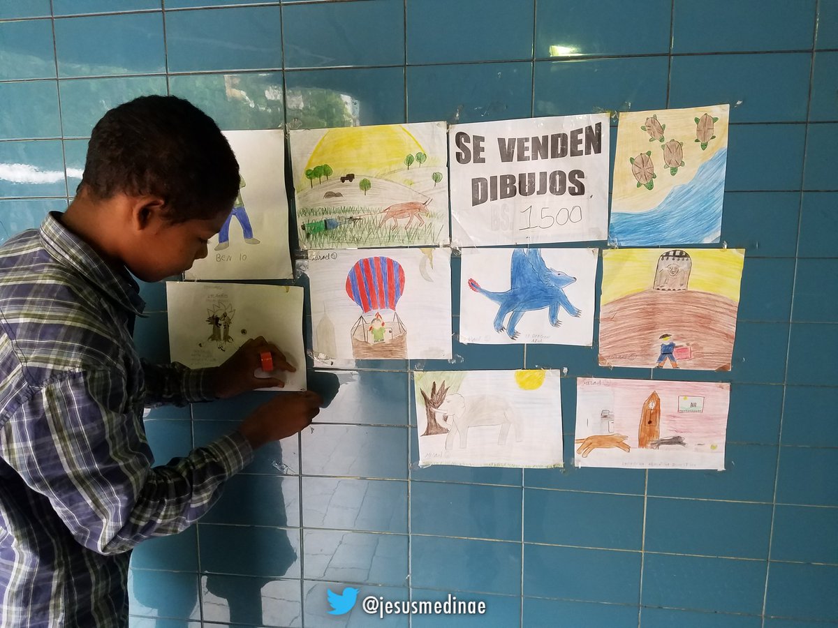
M 186 405 L 216 399 L 212 389 L 215 368 L 186 368 L 183 364 L 152 364 L 141 359 L 146 380 L 146 405 Z

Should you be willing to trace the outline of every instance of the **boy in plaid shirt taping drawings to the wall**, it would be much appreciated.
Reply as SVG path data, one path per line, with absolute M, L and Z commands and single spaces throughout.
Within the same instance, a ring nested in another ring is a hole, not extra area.
M 137 356 L 145 305 L 128 270 L 160 281 L 207 255 L 239 167 L 209 116 L 146 96 L 96 124 L 65 214 L 0 247 L 0 625 L 127 625 L 130 550 L 201 517 L 253 450 L 318 414 L 314 393 L 273 397 L 238 430 L 152 467 L 143 406 L 282 385 L 257 379 L 251 339 L 218 368 Z

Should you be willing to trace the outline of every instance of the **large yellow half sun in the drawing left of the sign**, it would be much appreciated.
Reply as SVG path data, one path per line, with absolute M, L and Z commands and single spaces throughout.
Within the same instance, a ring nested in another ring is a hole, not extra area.
M 328 163 L 334 172 L 376 175 L 398 167 L 406 155 L 424 152 L 401 125 L 345 126 L 329 129 L 314 147 L 306 169 Z M 303 183 L 307 180 L 303 178 Z

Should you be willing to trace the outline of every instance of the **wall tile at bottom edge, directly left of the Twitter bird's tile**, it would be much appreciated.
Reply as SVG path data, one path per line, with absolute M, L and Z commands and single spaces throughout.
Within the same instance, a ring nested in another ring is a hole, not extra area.
M 233 625 L 300 628 L 303 605 L 299 580 L 208 574 L 201 576 L 204 620 Z M 204 623 L 207 628 L 220 625 Z

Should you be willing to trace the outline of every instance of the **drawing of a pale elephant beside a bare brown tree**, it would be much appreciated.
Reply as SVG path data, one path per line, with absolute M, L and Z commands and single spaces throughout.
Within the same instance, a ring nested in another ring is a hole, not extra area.
M 559 373 L 416 371 L 419 464 L 562 466 Z

